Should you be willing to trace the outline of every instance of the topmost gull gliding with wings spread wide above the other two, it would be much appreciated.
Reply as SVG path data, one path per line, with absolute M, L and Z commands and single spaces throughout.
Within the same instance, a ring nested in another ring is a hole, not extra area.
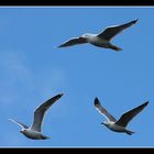
M 113 45 L 110 43 L 110 41 L 120 32 L 123 30 L 132 26 L 138 22 L 136 20 L 133 20 L 131 22 L 128 22 L 125 24 L 121 25 L 112 25 L 112 26 L 107 26 L 101 33 L 99 34 L 90 34 L 86 33 L 79 37 L 73 37 L 69 41 L 66 41 L 64 44 L 59 45 L 58 47 L 66 47 L 66 46 L 72 46 L 72 45 L 77 45 L 77 44 L 84 44 L 84 43 L 90 43 L 95 46 L 99 47 L 105 47 L 105 48 L 111 48 L 114 51 L 122 51 L 122 48 Z

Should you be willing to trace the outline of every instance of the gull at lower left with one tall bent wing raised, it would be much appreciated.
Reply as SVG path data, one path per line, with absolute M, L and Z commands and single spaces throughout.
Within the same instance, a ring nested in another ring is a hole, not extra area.
M 36 108 L 36 110 L 34 111 L 33 124 L 30 128 L 16 120 L 13 120 L 13 119 L 9 119 L 9 120 L 19 124 L 22 128 L 20 132 L 29 139 L 33 139 L 33 140 L 50 139 L 48 136 L 43 135 L 41 132 L 43 118 L 44 118 L 46 110 L 54 102 L 56 102 L 62 96 L 63 96 L 63 94 L 58 94 L 55 97 L 53 97 L 53 98 L 48 99 L 47 101 L 45 101 L 44 103 L 42 103 L 41 106 L 38 106 Z

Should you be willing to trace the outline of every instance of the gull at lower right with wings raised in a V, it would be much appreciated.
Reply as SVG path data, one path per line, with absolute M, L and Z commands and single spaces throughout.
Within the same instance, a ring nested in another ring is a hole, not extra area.
M 132 131 L 127 129 L 128 123 L 138 114 L 140 113 L 146 106 L 148 101 L 145 103 L 123 113 L 119 120 L 117 120 L 113 116 L 111 116 L 101 105 L 99 99 L 96 97 L 95 99 L 95 107 L 96 109 L 106 117 L 107 121 L 101 122 L 101 124 L 105 124 L 108 129 L 114 132 L 119 133 L 127 133 L 131 135 Z

